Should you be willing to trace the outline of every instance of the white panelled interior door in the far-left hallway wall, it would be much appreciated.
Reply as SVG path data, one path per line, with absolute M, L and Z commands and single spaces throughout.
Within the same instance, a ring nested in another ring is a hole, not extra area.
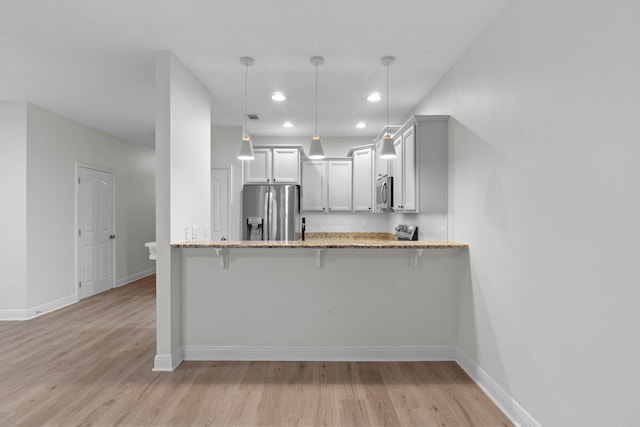
M 114 287 L 113 174 L 78 167 L 78 296 Z

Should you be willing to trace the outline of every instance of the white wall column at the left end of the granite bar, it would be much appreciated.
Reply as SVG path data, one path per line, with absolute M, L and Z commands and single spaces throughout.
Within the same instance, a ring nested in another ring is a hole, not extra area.
M 156 370 L 170 370 L 181 337 L 179 263 L 169 244 L 211 223 L 211 95 L 170 52 L 156 53 Z

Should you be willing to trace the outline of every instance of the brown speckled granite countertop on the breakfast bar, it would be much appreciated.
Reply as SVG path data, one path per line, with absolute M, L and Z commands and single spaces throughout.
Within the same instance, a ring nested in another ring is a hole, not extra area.
M 463 249 L 469 245 L 449 241 L 400 241 L 392 233 L 305 233 L 298 241 L 185 241 L 173 243 L 172 248 L 363 248 L 363 249 Z

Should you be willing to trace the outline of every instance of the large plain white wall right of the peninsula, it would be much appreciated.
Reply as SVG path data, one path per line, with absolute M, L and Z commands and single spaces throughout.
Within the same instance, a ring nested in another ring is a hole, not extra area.
M 516 0 L 419 114 L 451 114 L 459 346 L 544 426 L 640 408 L 640 3 Z

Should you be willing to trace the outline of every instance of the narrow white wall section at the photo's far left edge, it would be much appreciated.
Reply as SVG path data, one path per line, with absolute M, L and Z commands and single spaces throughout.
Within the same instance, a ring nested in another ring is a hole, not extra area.
M 0 313 L 27 306 L 27 106 L 0 103 Z

